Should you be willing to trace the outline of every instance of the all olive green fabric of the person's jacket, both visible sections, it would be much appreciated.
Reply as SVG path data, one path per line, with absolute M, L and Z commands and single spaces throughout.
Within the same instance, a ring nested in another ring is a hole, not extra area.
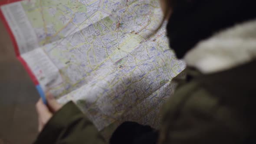
M 158 144 L 253 144 L 256 61 L 209 75 L 188 68 L 162 108 Z M 176 79 L 177 80 L 177 79 Z M 35 144 L 103 144 L 97 129 L 72 103 L 46 124 Z

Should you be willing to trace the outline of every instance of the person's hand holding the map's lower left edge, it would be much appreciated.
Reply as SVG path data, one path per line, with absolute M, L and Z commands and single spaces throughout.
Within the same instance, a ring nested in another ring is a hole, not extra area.
M 47 105 L 43 103 L 42 98 L 36 103 L 36 111 L 38 114 L 38 131 L 42 131 L 45 124 L 49 121 L 50 118 L 58 111 L 62 105 L 60 105 L 56 99 L 51 94 L 46 94 Z

